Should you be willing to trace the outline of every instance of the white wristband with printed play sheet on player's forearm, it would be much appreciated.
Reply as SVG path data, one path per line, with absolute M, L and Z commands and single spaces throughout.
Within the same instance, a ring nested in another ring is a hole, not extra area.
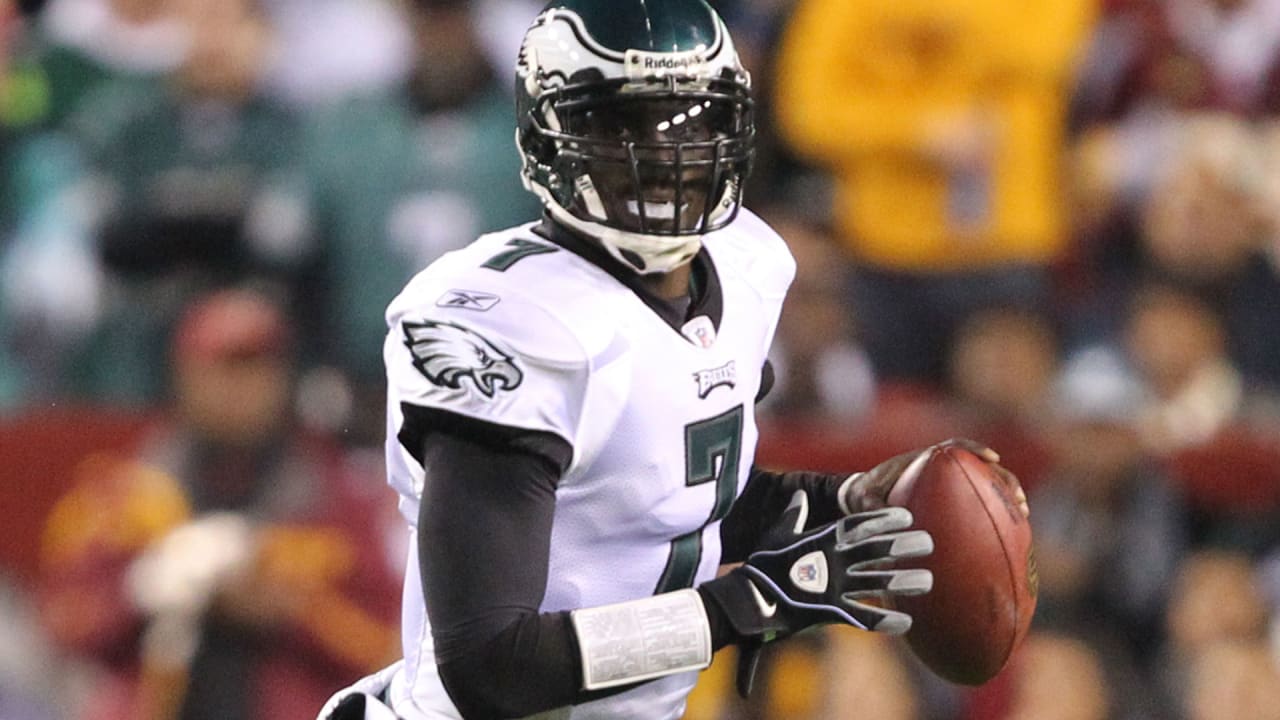
M 701 670 L 712 662 L 710 625 L 698 591 L 575 610 L 570 621 L 588 691 Z

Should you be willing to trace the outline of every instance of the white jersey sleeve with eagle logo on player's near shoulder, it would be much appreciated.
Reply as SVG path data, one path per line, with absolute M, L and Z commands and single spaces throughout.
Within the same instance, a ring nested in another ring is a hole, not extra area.
M 484 263 L 503 245 L 485 238 L 415 277 L 387 311 L 388 438 L 406 414 L 443 411 L 506 428 L 552 433 L 576 454 L 589 363 L 564 323 L 521 287 L 521 273 Z M 447 416 L 445 416 L 447 418 Z M 417 447 L 388 442 L 390 484 L 411 523 L 424 470 Z

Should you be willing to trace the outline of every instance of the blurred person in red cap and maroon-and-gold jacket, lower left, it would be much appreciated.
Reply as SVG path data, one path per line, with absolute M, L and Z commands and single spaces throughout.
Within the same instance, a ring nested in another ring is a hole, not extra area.
M 292 420 L 274 302 L 202 299 L 172 347 L 154 432 L 87 460 L 49 516 L 45 621 L 110 671 L 93 720 L 310 720 L 397 655 L 401 560 L 376 521 L 394 507 Z

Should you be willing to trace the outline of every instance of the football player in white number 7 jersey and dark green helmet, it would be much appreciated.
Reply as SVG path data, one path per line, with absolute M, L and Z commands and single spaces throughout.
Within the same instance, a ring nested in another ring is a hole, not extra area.
M 703 0 L 556 0 L 516 72 L 544 206 L 390 304 L 404 657 L 323 717 L 676 719 L 717 648 L 904 633 L 932 552 L 852 477 L 753 466 L 795 264 L 741 209 L 750 81 Z M 995 461 L 989 450 L 975 447 Z M 722 564 L 740 564 L 718 573 Z

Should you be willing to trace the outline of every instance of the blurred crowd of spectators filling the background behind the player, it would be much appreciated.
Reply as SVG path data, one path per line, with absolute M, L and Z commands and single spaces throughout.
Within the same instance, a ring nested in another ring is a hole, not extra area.
M 1280 720 L 1280 3 L 722 0 L 799 270 L 762 464 L 1028 489 L 980 688 L 732 656 L 690 720 Z M 534 219 L 539 0 L 0 0 L 0 719 L 310 719 L 398 653 L 383 311 Z

